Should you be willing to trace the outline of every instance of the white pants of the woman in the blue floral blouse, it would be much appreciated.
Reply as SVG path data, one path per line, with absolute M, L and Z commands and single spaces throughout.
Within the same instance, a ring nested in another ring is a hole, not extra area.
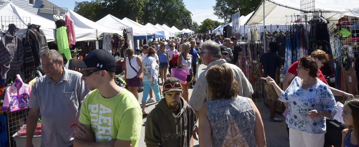
M 323 147 L 323 134 L 312 134 L 296 129 L 289 128 L 289 145 L 290 147 Z

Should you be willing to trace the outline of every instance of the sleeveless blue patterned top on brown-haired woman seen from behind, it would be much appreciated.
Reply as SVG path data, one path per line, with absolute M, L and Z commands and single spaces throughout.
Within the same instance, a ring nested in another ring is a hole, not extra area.
M 256 116 L 246 97 L 207 102 L 208 120 L 214 147 L 256 147 Z

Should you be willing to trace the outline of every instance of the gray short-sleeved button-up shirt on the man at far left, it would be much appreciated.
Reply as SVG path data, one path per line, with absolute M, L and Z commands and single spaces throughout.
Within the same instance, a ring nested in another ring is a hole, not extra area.
M 40 109 L 42 119 L 41 146 L 68 147 L 73 144 L 74 129 L 79 104 L 89 93 L 82 74 L 64 69 L 62 79 L 55 83 L 46 75 L 36 80 L 30 98 L 29 108 Z

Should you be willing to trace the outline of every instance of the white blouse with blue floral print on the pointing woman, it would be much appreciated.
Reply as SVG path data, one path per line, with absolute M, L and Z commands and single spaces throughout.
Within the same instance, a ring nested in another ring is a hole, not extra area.
M 328 85 L 317 78 L 312 87 L 303 89 L 299 77 L 295 77 L 289 87 L 279 95 L 278 100 L 289 103 L 286 123 L 289 128 L 299 131 L 323 134 L 326 132 L 325 117 L 308 117 L 312 110 L 327 110 L 329 119 L 333 119 L 337 112 L 337 105 L 333 93 Z M 319 112 L 318 112 L 319 113 Z

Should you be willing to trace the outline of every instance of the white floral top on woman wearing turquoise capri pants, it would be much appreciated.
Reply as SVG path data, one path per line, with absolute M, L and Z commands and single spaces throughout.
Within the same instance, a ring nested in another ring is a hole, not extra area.
M 143 67 L 143 81 L 152 81 L 152 77 L 155 81 L 158 79 L 158 64 L 153 57 L 146 57 L 142 60 Z

